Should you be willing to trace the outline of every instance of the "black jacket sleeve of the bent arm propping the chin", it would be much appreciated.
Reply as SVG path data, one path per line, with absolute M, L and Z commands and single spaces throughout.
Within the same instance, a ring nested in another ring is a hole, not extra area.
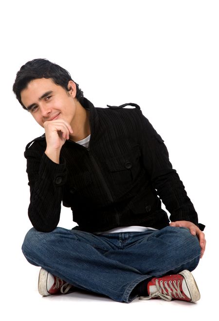
M 64 160 L 56 164 L 34 145 L 24 153 L 30 186 L 28 216 L 38 231 L 51 232 L 59 222 L 67 171 Z

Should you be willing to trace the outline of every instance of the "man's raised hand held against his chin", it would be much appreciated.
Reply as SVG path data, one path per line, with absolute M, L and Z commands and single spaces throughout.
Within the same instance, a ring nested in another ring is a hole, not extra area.
M 73 129 L 63 119 L 46 121 L 43 124 L 46 134 L 45 154 L 55 163 L 59 164 L 59 155 L 66 139 L 69 139 Z

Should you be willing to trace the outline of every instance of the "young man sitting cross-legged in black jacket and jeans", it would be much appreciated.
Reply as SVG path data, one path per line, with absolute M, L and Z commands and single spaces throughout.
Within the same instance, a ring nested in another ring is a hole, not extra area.
M 22 251 L 41 266 L 39 293 L 199 300 L 190 271 L 204 253 L 204 226 L 140 107 L 95 108 L 45 59 L 23 65 L 13 90 L 45 130 L 24 153 L 34 227 Z M 72 230 L 57 227 L 61 202 L 73 211 Z

